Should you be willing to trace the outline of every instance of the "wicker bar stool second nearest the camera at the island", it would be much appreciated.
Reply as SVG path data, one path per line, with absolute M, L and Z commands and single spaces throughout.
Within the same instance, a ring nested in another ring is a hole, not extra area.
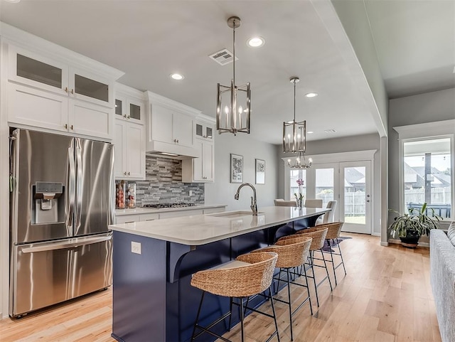
M 308 281 L 306 281 L 306 285 L 292 282 L 291 277 L 290 277 L 290 272 L 289 272 L 289 270 L 291 268 L 299 267 L 302 264 L 304 264 L 306 258 L 309 255 L 309 248 L 311 245 L 311 240 L 312 240 L 311 237 L 295 237 L 294 239 L 277 241 L 277 243 L 275 245 L 264 247 L 264 248 L 261 248 L 260 250 L 255 250 L 255 251 L 251 252 L 251 254 L 256 254 L 257 252 L 266 252 L 266 251 L 277 253 L 277 255 L 278 255 L 277 267 L 279 267 L 278 282 L 280 282 L 282 280 L 281 279 L 282 271 L 285 271 L 287 274 L 287 277 L 286 277 L 286 279 L 284 279 L 284 282 L 287 283 L 288 301 L 284 301 L 282 299 L 277 299 L 277 298 L 275 298 L 275 300 L 288 304 L 289 324 L 290 324 L 290 329 L 291 329 L 291 341 L 294 341 L 294 336 L 292 333 L 292 316 L 294 316 L 296 311 L 299 310 L 301 308 L 301 306 L 303 306 L 306 303 L 306 301 L 309 301 L 311 315 L 313 314 L 313 308 L 311 307 L 311 298 L 310 298 L 310 292 L 309 292 L 309 287 L 308 287 Z M 305 267 L 303 267 L 303 268 L 304 268 L 304 274 L 306 276 Z M 299 285 L 301 287 L 306 287 L 306 290 L 308 292 L 308 296 L 306 296 L 304 301 L 302 301 L 301 304 L 299 304 L 299 306 L 294 310 L 292 310 L 292 307 L 291 307 L 291 305 L 292 305 L 291 287 L 290 287 L 291 284 Z

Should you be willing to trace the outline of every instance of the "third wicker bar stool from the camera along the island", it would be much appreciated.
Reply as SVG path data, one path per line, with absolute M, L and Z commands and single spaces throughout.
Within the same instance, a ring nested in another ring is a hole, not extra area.
M 306 236 L 306 237 L 311 237 L 313 240 L 311 241 L 310 245 L 310 255 L 309 255 L 309 262 L 306 262 L 306 264 L 309 265 L 311 268 L 311 275 L 306 274 L 306 277 L 313 279 L 314 282 L 314 292 L 316 294 L 316 303 L 318 304 L 319 307 L 319 296 L 318 296 L 318 287 L 326 280 L 328 279 L 328 284 L 330 285 L 330 289 L 333 290 L 332 287 L 332 282 L 330 277 L 328 276 L 328 268 L 327 268 L 327 263 L 326 263 L 326 258 L 324 257 L 324 254 L 322 252 L 322 247 L 324 245 L 324 240 L 326 240 L 326 235 L 327 235 L 328 228 L 307 228 L 307 229 L 302 229 L 299 230 L 295 235 L 289 235 L 289 236 L 284 236 L 279 239 L 280 240 L 287 240 L 287 239 L 294 239 L 296 236 Z M 322 259 L 318 257 L 314 257 L 314 251 L 319 250 L 322 255 Z M 315 264 L 314 260 L 322 260 L 323 265 L 321 264 Z M 323 277 L 319 282 L 316 283 L 316 274 L 314 272 L 314 267 L 322 267 L 326 269 L 326 277 Z M 300 272 L 301 274 L 301 272 Z

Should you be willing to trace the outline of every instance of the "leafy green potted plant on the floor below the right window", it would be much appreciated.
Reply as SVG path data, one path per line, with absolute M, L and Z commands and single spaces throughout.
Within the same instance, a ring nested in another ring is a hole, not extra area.
M 408 213 L 401 214 L 396 210 L 389 209 L 398 216 L 394 219 L 393 223 L 389 226 L 390 236 L 400 237 L 401 243 L 405 247 L 415 248 L 417 242 L 422 235 L 429 235 L 429 231 L 439 228 L 439 220 L 441 216 L 434 213 L 427 215 L 427 203 L 422 205 L 422 208 L 409 208 Z

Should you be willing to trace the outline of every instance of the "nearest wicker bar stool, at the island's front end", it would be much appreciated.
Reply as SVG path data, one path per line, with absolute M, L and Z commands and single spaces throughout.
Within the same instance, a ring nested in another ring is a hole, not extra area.
M 196 316 L 196 323 L 193 327 L 193 335 L 191 336 L 191 341 L 194 341 L 195 338 L 200 336 L 202 333 L 210 333 L 210 335 L 216 336 L 223 341 L 228 341 L 227 338 L 223 336 L 219 336 L 218 334 L 210 331 L 210 328 L 215 326 L 216 324 L 223 321 L 228 316 L 232 314 L 232 298 L 238 298 L 240 300 L 240 324 L 242 329 L 242 342 L 245 341 L 245 333 L 244 333 L 244 306 L 243 306 L 243 299 L 245 297 L 253 296 L 255 294 L 259 294 L 264 292 L 265 290 L 269 289 L 269 299 L 272 304 L 272 315 L 266 314 L 262 311 L 258 311 L 256 309 L 247 308 L 252 311 L 258 312 L 259 314 L 263 314 L 264 316 L 268 316 L 274 319 L 275 324 L 275 331 L 272 335 L 267 339 L 270 341 L 275 334 L 277 335 L 277 339 L 279 341 L 279 333 L 278 333 L 278 324 L 277 324 L 277 317 L 275 316 L 275 309 L 273 304 L 273 296 L 272 292 L 270 291 L 270 285 L 272 284 L 273 274 L 275 265 L 277 264 L 278 255 L 272 252 L 262 252 L 262 253 L 253 253 L 253 254 L 246 254 L 240 255 L 237 257 L 236 260 L 231 262 L 226 262 L 225 264 L 221 264 L 217 267 L 213 267 L 211 269 L 206 269 L 204 271 L 199 271 L 193 274 L 193 278 L 191 279 L 191 285 L 193 287 L 197 287 L 198 289 L 203 290 L 202 298 L 200 299 L 200 304 L 198 308 L 198 314 Z M 230 311 L 217 319 L 215 322 L 210 324 L 207 327 L 200 326 L 198 324 L 200 309 L 202 308 L 204 295 L 206 292 L 211 294 L 215 294 L 218 296 L 228 296 L 230 297 Z M 199 328 L 201 331 L 196 334 L 196 328 Z

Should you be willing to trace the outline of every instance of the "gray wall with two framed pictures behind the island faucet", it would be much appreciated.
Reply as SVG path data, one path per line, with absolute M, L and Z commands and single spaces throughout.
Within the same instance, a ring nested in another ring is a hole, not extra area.
M 247 134 L 215 134 L 215 183 L 205 184 L 205 204 L 226 204 L 226 210 L 250 208 L 252 190 L 242 188 L 240 199 L 234 199 L 240 183 L 230 183 L 230 154 L 243 156 L 243 181 L 257 191 L 259 210 L 273 205 L 277 198 L 277 154 L 275 146 L 252 139 Z M 265 184 L 255 184 L 255 159 L 265 161 Z

